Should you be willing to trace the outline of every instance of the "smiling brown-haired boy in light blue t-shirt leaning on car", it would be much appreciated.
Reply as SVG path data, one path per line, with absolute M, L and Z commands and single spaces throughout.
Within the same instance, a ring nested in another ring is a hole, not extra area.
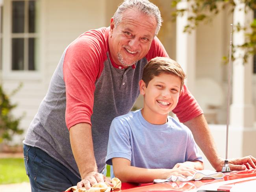
M 150 183 L 203 169 L 191 131 L 168 116 L 184 79 L 180 65 L 167 57 L 151 59 L 145 66 L 139 81 L 143 109 L 116 117 L 109 131 L 106 163 L 122 182 Z

